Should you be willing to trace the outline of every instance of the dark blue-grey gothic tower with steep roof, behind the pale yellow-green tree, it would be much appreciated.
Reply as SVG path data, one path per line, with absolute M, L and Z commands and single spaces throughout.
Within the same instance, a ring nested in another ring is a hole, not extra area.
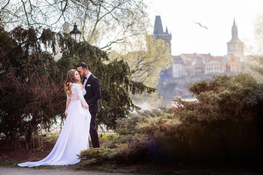
M 172 39 L 172 35 L 171 33 L 168 33 L 168 29 L 166 27 L 166 31 L 163 32 L 162 29 L 162 21 L 161 21 L 161 17 L 160 16 L 156 16 L 155 17 L 155 24 L 154 24 L 154 30 L 153 30 L 153 34 L 159 39 L 163 39 L 166 43 L 169 44 L 170 46 L 170 53 L 171 53 L 171 39 Z

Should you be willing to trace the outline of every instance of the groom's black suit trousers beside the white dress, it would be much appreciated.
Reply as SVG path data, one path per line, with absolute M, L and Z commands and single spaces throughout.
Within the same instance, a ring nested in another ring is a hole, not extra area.
M 91 137 L 91 143 L 93 148 L 99 148 L 100 143 L 98 141 L 98 132 L 96 127 L 96 112 L 91 112 L 91 120 L 90 120 L 90 128 L 89 128 L 89 134 Z

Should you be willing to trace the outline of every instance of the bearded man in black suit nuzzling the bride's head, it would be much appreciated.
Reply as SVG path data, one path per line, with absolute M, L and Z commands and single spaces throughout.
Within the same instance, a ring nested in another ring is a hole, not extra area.
M 98 99 L 101 98 L 101 83 L 99 79 L 91 74 L 87 65 L 84 62 L 77 64 L 77 70 L 80 77 L 83 78 L 82 84 L 86 89 L 84 99 L 89 105 L 89 112 L 91 114 L 89 134 L 93 148 L 99 148 L 98 132 L 96 128 L 96 113 L 100 111 Z

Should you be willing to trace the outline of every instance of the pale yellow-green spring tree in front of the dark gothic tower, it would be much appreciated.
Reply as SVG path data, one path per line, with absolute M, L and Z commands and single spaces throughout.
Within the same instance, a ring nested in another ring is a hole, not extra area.
M 161 72 L 168 69 L 172 64 L 170 47 L 164 40 L 150 35 L 145 36 L 145 41 L 142 40 L 136 44 L 136 51 L 128 52 L 127 54 L 113 51 L 109 58 L 123 58 L 129 64 L 131 80 L 143 82 L 150 87 L 157 87 Z M 161 101 L 158 92 L 150 95 L 136 95 L 132 99 L 136 101 L 150 101 L 151 104 L 155 105 Z

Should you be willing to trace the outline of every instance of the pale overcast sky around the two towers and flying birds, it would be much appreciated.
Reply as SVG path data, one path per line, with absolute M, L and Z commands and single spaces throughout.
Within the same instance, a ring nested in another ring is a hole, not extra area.
M 163 29 L 167 26 L 172 32 L 172 55 L 195 52 L 226 55 L 233 18 L 238 38 L 251 41 L 255 18 L 263 13 L 263 0 L 146 0 L 146 3 L 153 26 L 155 16 L 160 15 Z M 201 22 L 208 30 L 191 20 Z M 153 33 L 153 28 L 149 33 Z

